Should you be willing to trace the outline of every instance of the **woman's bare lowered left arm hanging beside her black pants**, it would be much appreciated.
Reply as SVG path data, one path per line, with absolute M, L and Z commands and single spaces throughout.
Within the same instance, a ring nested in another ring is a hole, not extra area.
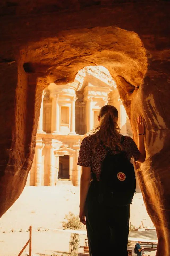
M 85 202 L 91 181 L 91 167 L 82 166 L 82 175 L 80 181 L 80 221 L 86 225 Z

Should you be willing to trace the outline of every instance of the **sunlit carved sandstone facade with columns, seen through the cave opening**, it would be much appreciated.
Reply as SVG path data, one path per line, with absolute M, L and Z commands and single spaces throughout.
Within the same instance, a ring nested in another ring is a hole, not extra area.
M 127 114 L 115 86 L 86 75 L 79 81 L 57 86 L 51 83 L 43 92 L 37 130 L 35 157 L 27 185 L 56 186 L 71 180 L 80 185 L 81 166 L 77 166 L 82 139 L 98 124 L 99 110 L 111 104 L 119 111 L 118 125 L 127 131 Z

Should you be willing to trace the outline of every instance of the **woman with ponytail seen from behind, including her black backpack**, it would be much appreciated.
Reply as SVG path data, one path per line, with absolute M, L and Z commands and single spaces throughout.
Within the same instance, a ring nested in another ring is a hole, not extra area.
M 121 135 L 114 106 L 103 106 L 98 120 L 99 126 L 83 139 L 79 152 L 79 217 L 86 225 L 90 256 L 127 256 L 130 204 L 136 186 L 130 159 L 145 161 L 144 120 L 137 119 L 138 147 L 133 139 Z

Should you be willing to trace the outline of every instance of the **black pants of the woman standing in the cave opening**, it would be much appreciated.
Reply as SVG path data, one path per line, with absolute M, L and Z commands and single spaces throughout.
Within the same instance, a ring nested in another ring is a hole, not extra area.
M 91 184 L 86 199 L 86 229 L 90 256 L 128 256 L 130 206 L 106 207 Z

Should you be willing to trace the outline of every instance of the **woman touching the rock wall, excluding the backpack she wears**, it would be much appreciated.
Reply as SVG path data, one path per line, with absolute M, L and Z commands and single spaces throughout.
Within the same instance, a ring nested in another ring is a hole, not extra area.
M 99 126 L 81 143 L 78 165 L 82 166 L 80 184 L 80 221 L 86 225 L 90 256 L 127 256 L 130 205 L 104 206 L 99 203 L 99 189 L 91 175 L 100 181 L 102 163 L 110 149 L 114 155 L 125 152 L 128 160 L 145 161 L 142 117 L 137 119 L 138 147 L 128 136 L 120 134 L 118 111 L 105 105 L 99 113 Z M 123 138 L 123 139 L 122 139 Z M 128 161 L 128 163 L 129 163 Z

